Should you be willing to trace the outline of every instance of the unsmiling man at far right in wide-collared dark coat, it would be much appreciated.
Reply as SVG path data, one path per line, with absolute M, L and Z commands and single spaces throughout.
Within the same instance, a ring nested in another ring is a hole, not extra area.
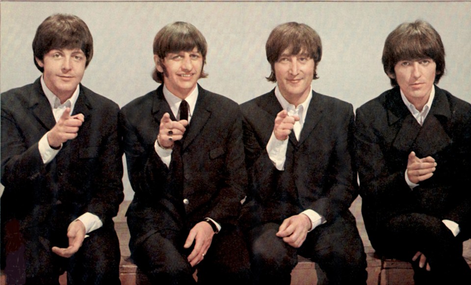
M 468 284 L 471 105 L 437 85 L 445 49 L 427 22 L 386 39 L 393 88 L 357 110 L 363 218 L 374 249 L 412 263 L 416 284 Z

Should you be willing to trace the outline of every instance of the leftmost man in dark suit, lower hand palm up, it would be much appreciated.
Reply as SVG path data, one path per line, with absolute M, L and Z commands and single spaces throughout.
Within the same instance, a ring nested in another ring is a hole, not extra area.
M 25 269 L 26 284 L 58 284 L 64 270 L 68 284 L 120 284 L 111 219 L 124 197 L 119 107 L 80 84 L 93 39 L 77 16 L 48 17 L 32 47 L 42 76 L 1 95 L 7 282 L 22 282 L 9 270 L 16 265 Z M 8 235 L 11 225 L 19 225 L 16 238 Z M 11 259 L 12 249 L 20 248 L 24 252 Z

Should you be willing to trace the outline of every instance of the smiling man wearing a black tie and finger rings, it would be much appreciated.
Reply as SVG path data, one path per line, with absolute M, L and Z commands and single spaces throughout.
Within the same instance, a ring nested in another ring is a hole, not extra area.
M 238 105 L 203 89 L 206 39 L 191 24 L 154 39 L 157 90 L 120 113 L 134 198 L 132 258 L 152 284 L 247 284 L 237 227 L 246 172 Z

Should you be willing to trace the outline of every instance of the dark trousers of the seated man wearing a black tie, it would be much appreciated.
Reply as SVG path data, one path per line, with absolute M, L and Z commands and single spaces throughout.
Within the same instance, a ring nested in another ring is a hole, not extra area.
M 152 284 L 196 284 L 192 277 L 195 269 L 198 284 L 250 283 L 247 246 L 237 228 L 225 226 L 215 234 L 205 258 L 195 267 L 187 261 L 193 247 L 183 248 L 188 233 L 188 230 L 162 230 L 131 247 L 132 259 Z

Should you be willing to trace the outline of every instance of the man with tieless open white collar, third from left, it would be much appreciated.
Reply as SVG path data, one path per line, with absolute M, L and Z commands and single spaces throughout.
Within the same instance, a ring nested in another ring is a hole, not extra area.
M 275 27 L 266 42 L 267 94 L 241 105 L 249 194 L 242 210 L 255 284 L 290 284 L 298 255 L 329 284 L 365 284 L 366 256 L 348 210 L 357 197 L 353 106 L 315 92 L 319 35 Z

